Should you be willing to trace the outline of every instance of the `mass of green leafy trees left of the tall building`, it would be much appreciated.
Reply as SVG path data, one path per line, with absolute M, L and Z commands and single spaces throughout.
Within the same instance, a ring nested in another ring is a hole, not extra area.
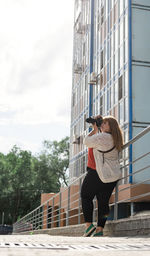
M 58 192 L 67 185 L 69 138 L 44 141 L 43 146 L 38 156 L 17 146 L 7 155 L 0 153 L 0 215 L 5 212 L 5 223 L 14 223 L 39 206 L 41 193 Z

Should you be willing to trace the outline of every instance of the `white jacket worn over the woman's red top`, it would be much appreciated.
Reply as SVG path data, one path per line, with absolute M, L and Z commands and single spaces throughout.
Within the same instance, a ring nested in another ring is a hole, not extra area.
M 113 182 L 121 178 L 118 150 L 114 148 L 109 153 L 100 153 L 98 150 L 107 151 L 114 147 L 112 135 L 109 133 L 97 133 L 86 136 L 83 143 L 88 148 L 93 148 L 96 163 L 96 171 L 104 183 Z

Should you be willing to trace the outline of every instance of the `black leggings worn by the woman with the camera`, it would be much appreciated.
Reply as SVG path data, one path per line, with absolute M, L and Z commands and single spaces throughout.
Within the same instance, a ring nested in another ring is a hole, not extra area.
M 96 196 L 98 201 L 97 226 L 105 226 L 109 214 L 109 199 L 117 181 L 103 183 L 96 170 L 87 168 L 88 173 L 83 180 L 81 187 L 82 209 L 85 222 L 93 222 L 93 199 Z

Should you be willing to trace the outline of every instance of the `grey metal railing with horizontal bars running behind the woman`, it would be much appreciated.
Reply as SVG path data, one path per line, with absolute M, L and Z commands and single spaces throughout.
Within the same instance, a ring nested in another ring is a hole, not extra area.
M 109 219 L 120 218 L 119 207 L 129 206 L 125 217 L 134 214 L 134 204 L 150 201 L 150 126 L 126 143 L 120 156 L 122 178 L 118 182 L 110 199 L 111 214 Z M 132 162 L 129 162 L 129 148 L 132 145 Z M 141 152 L 142 149 L 142 152 Z M 129 172 L 130 168 L 130 172 Z M 68 187 L 45 201 L 32 212 L 13 225 L 13 231 L 23 232 L 37 229 L 63 227 L 84 222 L 80 190 L 85 173 Z M 132 184 L 129 177 L 132 176 Z M 96 221 L 97 203 L 94 201 L 93 218 Z

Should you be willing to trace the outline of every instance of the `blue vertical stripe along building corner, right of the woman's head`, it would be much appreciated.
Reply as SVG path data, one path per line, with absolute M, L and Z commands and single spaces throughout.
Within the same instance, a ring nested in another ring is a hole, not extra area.
M 129 10 L 129 140 L 132 139 L 132 0 L 128 1 Z M 129 161 L 132 162 L 132 145 L 129 148 Z M 132 164 L 129 167 L 129 182 L 132 183 Z

